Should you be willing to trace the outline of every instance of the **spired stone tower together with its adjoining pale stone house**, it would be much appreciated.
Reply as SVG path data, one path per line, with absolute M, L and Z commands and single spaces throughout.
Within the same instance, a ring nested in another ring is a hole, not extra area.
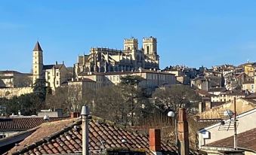
M 58 64 L 56 62 L 55 65 L 44 65 L 43 50 L 39 41 L 36 42 L 33 50 L 32 71 L 33 84 L 35 84 L 36 79 L 45 79 L 46 86 L 50 87 L 51 90 L 55 90 L 68 80 L 68 70 L 64 63 Z

